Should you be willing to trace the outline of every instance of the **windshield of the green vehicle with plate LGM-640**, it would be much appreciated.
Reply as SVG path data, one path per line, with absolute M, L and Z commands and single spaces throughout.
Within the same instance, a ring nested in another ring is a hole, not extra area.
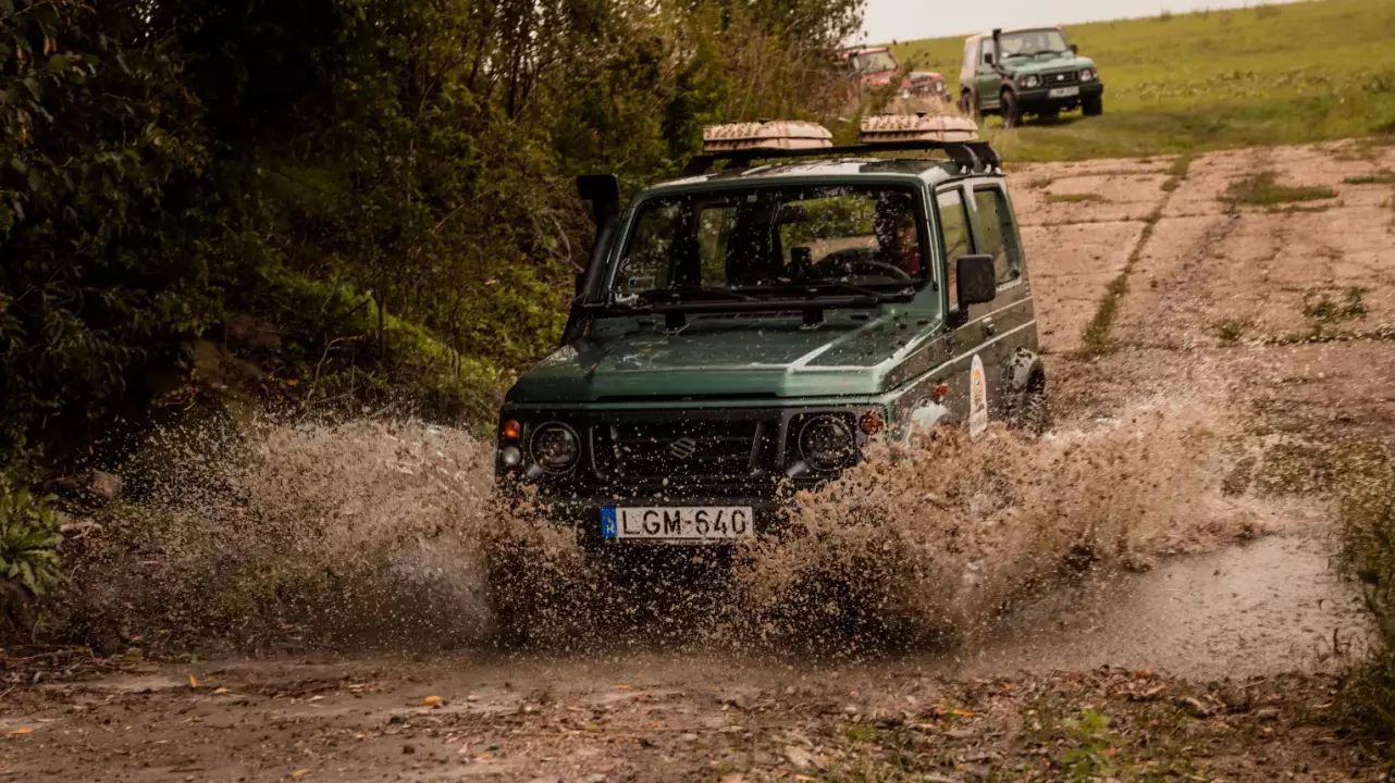
M 823 185 L 685 194 L 635 215 L 615 301 L 904 290 L 923 280 L 923 210 L 910 188 Z

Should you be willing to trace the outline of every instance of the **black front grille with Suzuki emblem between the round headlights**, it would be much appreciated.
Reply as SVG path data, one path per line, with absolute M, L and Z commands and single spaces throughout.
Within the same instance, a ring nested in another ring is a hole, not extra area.
M 597 468 L 612 479 L 739 479 L 760 470 L 774 422 L 619 421 L 594 428 Z

